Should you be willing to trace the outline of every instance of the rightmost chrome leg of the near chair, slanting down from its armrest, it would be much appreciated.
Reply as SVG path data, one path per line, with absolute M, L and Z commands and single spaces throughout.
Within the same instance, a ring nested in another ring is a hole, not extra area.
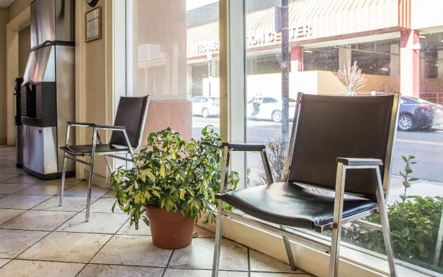
M 397 265 L 395 265 L 394 260 L 394 250 L 392 247 L 392 239 L 390 235 L 390 226 L 388 220 L 388 211 L 386 209 L 385 197 L 383 195 L 383 185 L 381 183 L 380 171 L 377 168 L 375 170 L 377 186 L 375 188 L 375 195 L 377 197 L 377 202 L 379 204 L 379 215 L 381 221 L 381 231 L 383 232 L 383 240 L 386 247 L 386 256 L 388 258 L 389 271 L 391 277 L 397 277 Z

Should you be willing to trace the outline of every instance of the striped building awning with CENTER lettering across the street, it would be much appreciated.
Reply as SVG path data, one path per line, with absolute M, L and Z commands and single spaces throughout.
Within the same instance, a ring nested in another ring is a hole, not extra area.
M 378 30 L 410 27 L 411 0 L 304 0 L 289 4 L 289 41 L 309 44 L 343 35 L 359 37 Z M 275 32 L 275 10 L 246 15 L 246 47 L 280 44 Z M 219 23 L 188 28 L 188 57 L 219 51 Z

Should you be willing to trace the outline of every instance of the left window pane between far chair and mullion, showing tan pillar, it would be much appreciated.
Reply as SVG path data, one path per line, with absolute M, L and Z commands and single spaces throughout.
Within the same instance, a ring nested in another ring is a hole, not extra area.
M 216 0 L 128 0 L 127 94 L 152 96 L 161 128 L 219 132 L 218 42 Z

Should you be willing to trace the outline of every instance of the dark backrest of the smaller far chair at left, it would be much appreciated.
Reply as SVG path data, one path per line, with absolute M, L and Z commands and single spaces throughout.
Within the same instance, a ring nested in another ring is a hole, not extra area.
M 118 102 L 114 126 L 126 128 L 129 142 L 134 149 L 138 149 L 141 144 L 149 102 L 150 96 L 120 97 L 120 102 Z M 127 144 L 125 135 L 120 131 L 112 132 L 109 143 L 116 145 Z

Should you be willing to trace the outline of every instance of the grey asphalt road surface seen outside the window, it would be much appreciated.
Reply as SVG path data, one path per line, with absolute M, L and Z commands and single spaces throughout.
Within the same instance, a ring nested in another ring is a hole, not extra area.
M 214 125 L 219 131 L 219 118 L 193 118 L 192 135 L 199 137 L 201 128 Z M 278 123 L 270 121 L 248 120 L 248 143 L 266 143 L 277 138 L 280 134 Z M 404 168 L 401 156 L 413 155 L 417 164 L 413 166 L 413 176 L 422 180 L 438 181 L 443 185 L 443 126 L 434 127 L 428 132 L 397 132 L 394 148 L 392 174 Z M 260 168 L 260 158 L 248 157 L 248 167 Z

